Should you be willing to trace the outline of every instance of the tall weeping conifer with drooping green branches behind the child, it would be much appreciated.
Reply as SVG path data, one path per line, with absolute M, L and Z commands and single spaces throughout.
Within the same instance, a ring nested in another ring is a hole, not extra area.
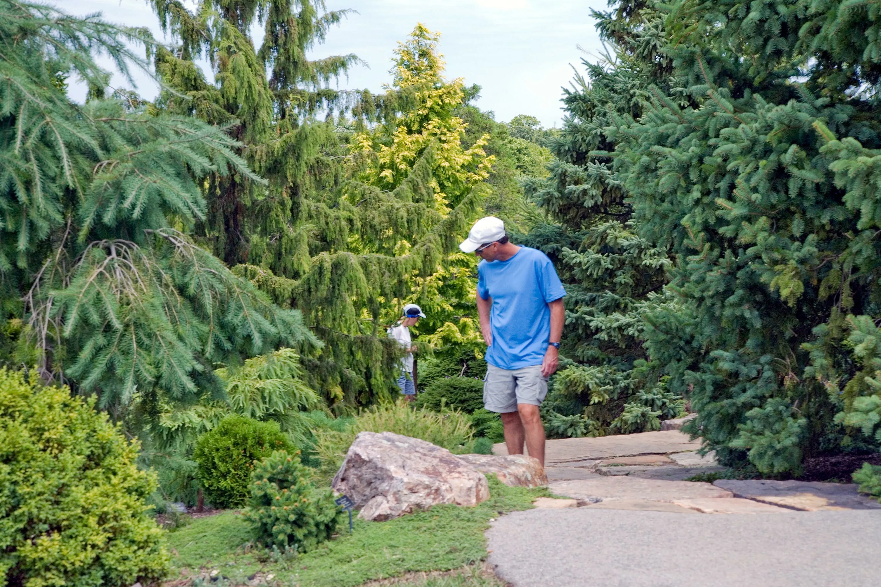
M 304 313 L 326 343 L 320 355 L 303 356 L 309 385 L 349 404 L 389 393 L 400 351 L 385 336 L 383 312 L 455 250 L 478 205 L 476 181 L 444 175 L 443 132 L 420 144 L 383 187 L 357 180 L 361 156 L 348 144 L 365 122 L 397 120 L 416 111 L 424 92 L 448 90 L 406 69 L 407 81 L 381 95 L 330 89 L 357 58 L 307 60 L 345 15 L 324 12 L 320 0 L 203 0 L 194 11 L 176 0 L 152 4 L 180 43 L 176 52 L 157 52 L 169 91 L 156 106 L 233 124 L 242 158 L 267 180 L 209 177 L 200 240 L 278 304 Z M 249 35 L 258 22 L 266 33 L 256 48 Z M 209 58 L 213 83 L 193 61 L 198 55 Z M 336 114 L 318 121 L 319 111 Z

